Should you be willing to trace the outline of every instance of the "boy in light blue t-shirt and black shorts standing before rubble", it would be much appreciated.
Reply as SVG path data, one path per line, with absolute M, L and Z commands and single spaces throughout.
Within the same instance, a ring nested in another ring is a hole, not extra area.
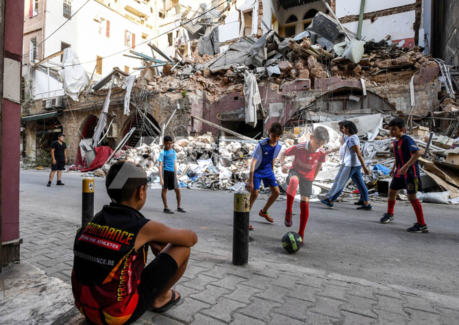
M 160 173 L 160 184 L 162 185 L 161 198 L 162 203 L 164 203 L 163 211 L 164 213 L 174 213 L 174 210 L 167 205 L 167 191 L 174 190 L 175 197 L 177 197 L 177 211 L 186 212 L 186 210 L 180 206 L 182 194 L 180 193 L 177 164 L 175 163 L 177 153 L 172 149 L 172 137 L 164 136 L 162 141 L 164 143 L 164 149 L 160 153 L 160 158 L 158 159 L 160 162 L 158 169 Z

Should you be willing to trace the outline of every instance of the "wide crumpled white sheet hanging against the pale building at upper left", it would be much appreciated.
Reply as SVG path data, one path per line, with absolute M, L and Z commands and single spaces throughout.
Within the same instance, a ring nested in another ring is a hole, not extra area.
M 64 69 L 58 72 L 60 81 L 71 99 L 78 101 L 79 94 L 89 84 L 89 77 L 82 65 L 79 64 L 77 53 L 71 47 L 64 49 L 62 67 Z

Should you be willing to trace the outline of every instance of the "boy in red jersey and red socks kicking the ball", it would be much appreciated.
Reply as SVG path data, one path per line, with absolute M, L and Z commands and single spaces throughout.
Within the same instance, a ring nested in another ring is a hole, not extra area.
M 301 213 L 299 217 L 298 234 L 301 236 L 301 239 L 304 237 L 304 228 L 306 228 L 309 217 L 309 198 L 312 194 L 312 181 L 314 181 L 319 171 L 321 171 L 322 163 L 325 163 L 325 156 L 327 154 L 322 146 L 328 141 L 330 141 L 330 136 L 327 129 L 323 126 L 319 126 L 312 132 L 310 141 L 294 145 L 280 154 L 282 172 L 288 173 L 285 225 L 291 227 L 293 224 L 292 206 L 299 185 L 299 194 L 301 195 L 299 207 Z M 293 165 L 290 167 L 290 170 L 285 165 L 285 156 L 295 156 L 295 160 L 293 160 Z

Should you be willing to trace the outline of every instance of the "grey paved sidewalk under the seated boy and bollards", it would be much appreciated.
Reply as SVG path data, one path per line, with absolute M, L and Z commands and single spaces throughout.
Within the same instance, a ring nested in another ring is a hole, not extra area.
M 21 265 L 0 276 L 1 324 L 86 324 L 69 283 L 77 224 L 21 215 Z M 149 254 L 151 261 L 151 254 Z M 377 281 L 377 279 L 375 279 Z M 228 251 L 192 250 L 176 289 L 182 301 L 136 324 L 457 324 L 459 298 L 327 274 Z

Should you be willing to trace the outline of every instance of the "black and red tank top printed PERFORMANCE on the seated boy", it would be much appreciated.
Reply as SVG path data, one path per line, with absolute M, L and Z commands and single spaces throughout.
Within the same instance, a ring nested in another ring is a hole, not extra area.
M 149 219 L 129 206 L 103 206 L 80 228 L 73 245 L 72 291 L 75 305 L 95 324 L 123 324 L 136 309 L 137 287 L 148 245 L 134 243 Z

